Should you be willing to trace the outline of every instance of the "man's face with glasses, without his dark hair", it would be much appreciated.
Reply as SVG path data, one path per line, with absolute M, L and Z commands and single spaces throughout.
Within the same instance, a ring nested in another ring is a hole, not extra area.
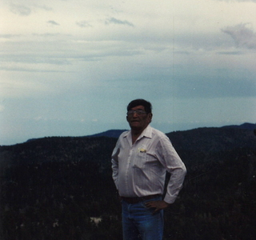
M 140 110 L 145 112 L 144 106 L 134 106 L 131 110 Z M 151 122 L 152 114 L 147 114 L 146 112 L 142 114 L 134 112 L 133 114 L 128 114 L 126 119 L 132 130 L 144 130 Z

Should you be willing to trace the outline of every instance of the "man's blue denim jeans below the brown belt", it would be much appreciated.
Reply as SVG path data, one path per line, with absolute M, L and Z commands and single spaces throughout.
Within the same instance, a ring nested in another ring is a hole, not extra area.
M 138 203 L 122 200 L 123 240 L 162 240 L 163 210 L 153 214 L 154 209 L 145 203 L 162 200 L 161 197 Z

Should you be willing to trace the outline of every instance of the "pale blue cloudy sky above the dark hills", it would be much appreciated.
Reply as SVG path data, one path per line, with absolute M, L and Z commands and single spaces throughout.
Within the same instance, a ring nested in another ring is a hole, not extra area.
M 1 0 L 0 145 L 256 122 L 256 0 Z

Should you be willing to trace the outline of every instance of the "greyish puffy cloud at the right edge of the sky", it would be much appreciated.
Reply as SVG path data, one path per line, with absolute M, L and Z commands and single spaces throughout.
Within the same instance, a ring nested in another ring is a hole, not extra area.
M 249 23 L 241 23 L 236 26 L 227 26 L 222 32 L 229 34 L 238 47 L 256 49 L 256 34 Z

